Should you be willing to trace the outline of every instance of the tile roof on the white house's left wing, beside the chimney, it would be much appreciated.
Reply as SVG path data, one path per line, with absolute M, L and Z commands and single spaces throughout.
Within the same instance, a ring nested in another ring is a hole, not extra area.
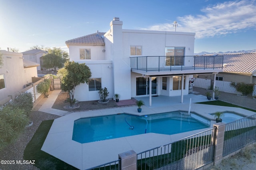
M 79 45 L 79 44 L 96 44 L 96 45 L 105 45 L 104 34 L 106 32 L 98 32 L 94 34 L 89 34 L 87 36 L 74 38 L 72 40 L 66 41 L 67 45 Z

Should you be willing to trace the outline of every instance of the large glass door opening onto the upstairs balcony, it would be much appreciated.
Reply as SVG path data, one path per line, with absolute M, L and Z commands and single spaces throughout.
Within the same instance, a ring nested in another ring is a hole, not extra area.
M 165 47 L 166 65 L 184 65 L 184 51 L 184 47 Z

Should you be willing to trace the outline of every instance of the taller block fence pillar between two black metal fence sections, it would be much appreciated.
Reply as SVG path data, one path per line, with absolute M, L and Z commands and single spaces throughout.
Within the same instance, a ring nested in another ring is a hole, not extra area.
M 225 124 L 216 123 L 213 124 L 213 127 L 216 127 L 216 133 L 214 135 L 215 140 L 215 150 L 214 150 L 214 165 L 220 164 L 222 161 L 222 153 L 224 146 L 224 134 L 225 134 Z

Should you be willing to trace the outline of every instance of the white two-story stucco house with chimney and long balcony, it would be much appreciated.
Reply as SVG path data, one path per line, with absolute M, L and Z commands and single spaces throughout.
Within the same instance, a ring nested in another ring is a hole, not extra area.
M 70 61 L 86 63 L 92 72 L 88 85 L 76 87 L 79 101 L 98 100 L 98 89 L 107 87 L 109 97 L 120 100 L 152 95 L 189 93 L 194 74 L 222 71 L 222 57 L 207 61 L 194 55 L 195 33 L 122 29 L 114 18 L 108 32 L 98 32 L 66 41 Z

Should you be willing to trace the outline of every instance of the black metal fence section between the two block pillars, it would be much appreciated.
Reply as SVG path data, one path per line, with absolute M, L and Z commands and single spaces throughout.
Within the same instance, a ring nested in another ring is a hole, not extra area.
M 216 128 L 137 154 L 137 170 L 193 170 L 213 162 Z

